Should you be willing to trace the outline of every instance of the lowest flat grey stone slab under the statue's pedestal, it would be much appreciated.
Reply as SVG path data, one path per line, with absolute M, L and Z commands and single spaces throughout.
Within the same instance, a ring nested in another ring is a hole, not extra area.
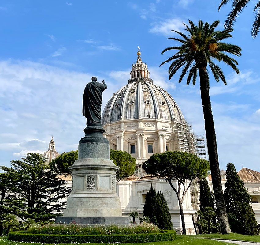
M 128 216 L 119 217 L 56 217 L 56 224 L 129 224 Z

